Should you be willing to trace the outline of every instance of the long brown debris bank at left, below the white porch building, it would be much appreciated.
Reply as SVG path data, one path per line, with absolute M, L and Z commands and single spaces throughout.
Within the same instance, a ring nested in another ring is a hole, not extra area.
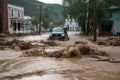
M 39 45 L 40 44 L 40 45 Z M 31 48 L 35 48 L 35 47 L 49 47 L 49 46 L 58 46 L 58 43 L 56 43 L 55 41 L 44 41 L 41 40 L 40 42 L 26 42 L 26 41 L 20 41 L 17 39 L 14 40 L 4 40 L 4 39 L 0 39 L 0 50 L 4 50 L 4 48 L 9 47 L 10 49 L 14 49 L 14 50 L 28 50 Z

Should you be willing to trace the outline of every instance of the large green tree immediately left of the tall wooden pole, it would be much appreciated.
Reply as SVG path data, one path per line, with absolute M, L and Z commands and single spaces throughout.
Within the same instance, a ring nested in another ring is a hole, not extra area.
M 77 19 L 79 26 L 84 34 L 86 34 L 86 24 L 88 22 L 89 3 L 87 0 L 63 0 L 65 5 L 64 15 L 70 15 L 71 18 Z M 66 12 L 67 11 L 67 12 Z M 65 14 L 66 13 L 66 14 Z

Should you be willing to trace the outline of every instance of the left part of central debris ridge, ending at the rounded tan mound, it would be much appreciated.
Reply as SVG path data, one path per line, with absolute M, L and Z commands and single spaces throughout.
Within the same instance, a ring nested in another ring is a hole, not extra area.
M 31 56 L 43 56 L 43 57 L 55 57 L 55 58 L 70 58 L 70 57 L 81 57 L 79 49 L 76 47 L 70 47 L 68 49 L 62 49 L 54 52 L 46 52 L 45 49 L 32 49 L 22 54 L 24 57 Z

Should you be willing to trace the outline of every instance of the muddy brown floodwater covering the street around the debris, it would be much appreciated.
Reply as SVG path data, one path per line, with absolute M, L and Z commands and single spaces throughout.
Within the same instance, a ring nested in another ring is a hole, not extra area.
M 75 41 L 85 41 L 92 47 L 114 54 L 120 47 L 98 46 L 77 32 L 69 33 L 69 41 L 56 41 L 57 47 L 74 45 Z M 48 34 L 19 37 L 23 40 L 47 39 Z M 39 39 L 38 39 L 39 38 Z M 50 47 L 51 49 L 52 47 Z M 56 48 L 53 47 L 55 50 Z M 50 50 L 48 49 L 48 51 Z M 114 51 L 115 50 L 115 51 Z M 120 63 L 101 61 L 91 55 L 82 58 L 20 57 L 23 51 L 0 51 L 0 80 L 120 80 Z

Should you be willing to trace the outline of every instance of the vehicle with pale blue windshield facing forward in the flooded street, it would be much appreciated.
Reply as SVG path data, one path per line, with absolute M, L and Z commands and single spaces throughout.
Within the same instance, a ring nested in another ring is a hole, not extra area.
M 62 27 L 55 27 L 52 29 L 49 38 L 50 40 L 53 40 L 53 39 L 65 40 L 66 38 L 68 38 L 67 30 L 65 30 Z

